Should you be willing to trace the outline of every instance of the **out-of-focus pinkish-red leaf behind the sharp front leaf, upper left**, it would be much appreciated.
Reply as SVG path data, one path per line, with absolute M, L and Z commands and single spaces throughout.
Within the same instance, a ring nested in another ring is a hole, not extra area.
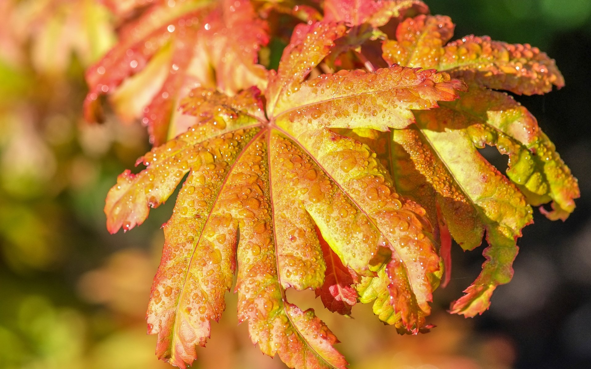
M 111 6 L 126 12 L 137 4 Z M 178 101 L 192 88 L 264 89 L 266 70 L 256 63 L 267 43 L 267 25 L 248 0 L 157 1 L 124 24 L 119 43 L 87 70 L 86 119 L 99 119 L 98 96 L 109 93 L 118 115 L 143 115 L 160 145 L 176 131 Z

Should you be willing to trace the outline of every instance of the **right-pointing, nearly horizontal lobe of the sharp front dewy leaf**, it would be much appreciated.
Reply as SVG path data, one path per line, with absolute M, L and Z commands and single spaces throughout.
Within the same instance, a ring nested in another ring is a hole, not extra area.
M 297 115 L 317 127 L 404 128 L 414 122 L 412 109 L 437 107 L 437 101 L 457 99 L 457 90 L 465 89 L 462 81 L 434 70 L 400 66 L 373 73 L 341 70 L 306 81 L 283 95 L 274 114 Z

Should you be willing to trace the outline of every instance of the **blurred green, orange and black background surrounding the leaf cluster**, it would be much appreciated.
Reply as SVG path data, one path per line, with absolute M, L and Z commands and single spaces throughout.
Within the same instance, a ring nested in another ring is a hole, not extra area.
M 474 319 L 446 313 L 483 261 L 455 247 L 452 283 L 435 293 L 429 334 L 399 336 L 371 306 L 355 306 L 348 319 L 322 309 L 313 292 L 290 298 L 316 308 L 351 368 L 591 367 L 591 1 L 427 3 L 452 17 L 457 38 L 530 43 L 556 58 L 566 87 L 517 99 L 579 178 L 577 210 L 566 223 L 536 211 L 513 281 Z M 116 19 L 95 0 L 0 0 L 0 14 L 0 368 L 168 368 L 154 356 L 144 315 L 173 202 L 144 226 L 109 235 L 106 192 L 148 139 L 139 124 L 81 118 L 83 71 L 115 42 Z M 246 326 L 236 328 L 228 298 L 194 367 L 284 368 L 252 347 Z

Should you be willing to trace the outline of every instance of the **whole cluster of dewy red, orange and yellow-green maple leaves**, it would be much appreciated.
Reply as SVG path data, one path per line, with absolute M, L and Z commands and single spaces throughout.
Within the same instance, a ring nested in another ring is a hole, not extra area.
M 109 191 L 112 233 L 141 224 L 185 178 L 147 313 L 171 364 L 196 358 L 237 275 L 239 321 L 262 352 L 343 368 L 335 335 L 286 289 L 314 289 L 339 314 L 373 303 L 381 321 L 417 333 L 449 281 L 452 239 L 488 243 L 451 308 L 474 316 L 511 280 L 531 205 L 551 202 L 541 209 L 552 220 L 574 210 L 569 168 L 498 91 L 563 86 L 537 48 L 449 42 L 452 21 L 418 0 L 139 4 L 114 8 L 135 17 L 89 68 L 86 112 L 96 119 L 108 93 L 116 112 L 143 116 L 155 144 L 145 169 Z M 297 25 L 269 70 L 259 63 L 286 24 Z M 509 156 L 506 176 L 480 155 L 486 145 Z

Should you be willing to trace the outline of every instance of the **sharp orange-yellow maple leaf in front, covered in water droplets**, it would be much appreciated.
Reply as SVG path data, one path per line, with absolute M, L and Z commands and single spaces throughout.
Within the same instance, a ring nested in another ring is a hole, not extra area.
M 148 309 L 158 357 L 180 367 L 194 360 L 237 269 L 239 321 L 262 352 L 290 367 L 345 367 L 326 325 L 285 298 L 289 287 L 324 288 L 327 271 L 344 272 L 332 260 L 327 266 L 319 238 L 361 276 L 384 270 L 400 326 L 424 325 L 440 273 L 426 212 L 397 194 L 368 146 L 329 128 L 402 128 L 414 122 L 411 109 L 454 100 L 465 86 L 446 73 L 398 66 L 306 80 L 345 31 L 330 22 L 298 25 L 264 96 L 256 87 L 233 97 L 194 89 L 181 110 L 198 122 L 109 191 L 114 233 L 141 224 L 188 174 L 164 226 Z

